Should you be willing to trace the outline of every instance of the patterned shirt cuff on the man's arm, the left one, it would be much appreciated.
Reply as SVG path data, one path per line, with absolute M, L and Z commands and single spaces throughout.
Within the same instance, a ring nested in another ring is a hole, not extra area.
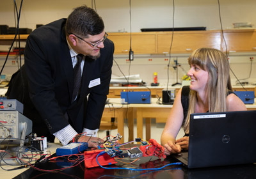
M 58 132 L 55 132 L 53 135 L 59 139 L 63 146 L 65 146 L 77 135 L 77 132 L 71 127 L 71 125 L 67 125 Z

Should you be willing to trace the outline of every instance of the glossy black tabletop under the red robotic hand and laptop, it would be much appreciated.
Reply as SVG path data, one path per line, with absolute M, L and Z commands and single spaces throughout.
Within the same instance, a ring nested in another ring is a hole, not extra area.
M 239 154 L 238 154 L 239 155 Z M 55 155 L 52 155 L 55 157 Z M 174 164 L 166 166 L 168 164 L 176 163 L 177 160 L 172 155 L 167 156 L 166 159 L 149 160 L 143 162 L 141 158 L 136 164 L 124 164 L 122 166 L 116 166 L 115 164 L 102 167 L 86 168 L 84 161 L 78 165 L 72 167 L 74 162 L 63 159 L 50 160 L 45 163 L 36 164 L 35 167 L 43 169 L 45 171 L 39 171 L 30 167 L 25 170 L 17 171 L 4 171 L 2 177 L 14 179 L 21 178 L 173 178 L 173 179 L 200 179 L 200 178 L 255 178 L 256 165 L 255 164 L 242 164 L 236 166 L 219 166 L 219 167 L 207 167 L 188 169 L 186 166 Z M 164 167 L 163 169 L 152 170 L 154 168 Z M 54 169 L 63 169 L 58 172 L 53 172 Z M 115 167 L 125 167 L 130 169 L 115 169 Z M 143 171 L 132 171 L 131 169 L 145 169 Z M 147 170 L 151 169 L 151 170 Z M 15 175 L 10 175 L 15 173 Z

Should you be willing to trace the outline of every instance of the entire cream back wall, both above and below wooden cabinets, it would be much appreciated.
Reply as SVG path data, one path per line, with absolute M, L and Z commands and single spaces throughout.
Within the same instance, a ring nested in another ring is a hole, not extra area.
M 139 32 L 141 28 L 152 27 L 172 27 L 173 14 L 172 0 L 131 0 L 131 29 L 132 32 Z M 20 27 L 35 29 L 36 24 L 47 24 L 53 20 L 67 17 L 72 8 L 86 4 L 91 6 L 92 1 L 82 0 L 24 0 L 20 16 Z M 19 6 L 20 0 L 17 1 Z M 129 0 L 96 0 L 97 12 L 106 26 L 107 32 L 117 32 L 119 30 L 130 32 L 129 22 Z M 234 22 L 251 22 L 256 26 L 256 1 L 255 0 L 220 0 L 221 20 L 223 29 L 232 28 Z M 15 26 L 13 17 L 13 1 L 1 0 L 0 2 L 0 24 L 7 24 L 10 27 Z M 193 27 L 205 26 L 207 29 L 220 29 L 220 19 L 217 0 L 179 0 L 175 1 L 174 27 Z M 254 27 L 255 27 L 254 26 Z M 252 77 L 249 81 L 256 81 L 255 73 L 255 54 L 252 68 Z M 148 61 L 153 59 L 154 63 Z M 159 82 L 167 81 L 167 63 L 163 62 L 165 56 L 140 58 L 135 55 L 131 63 L 130 74 L 140 74 L 143 81 L 148 83 L 153 81 L 153 72 L 158 72 Z M 182 61 L 184 70 L 188 70 L 186 58 L 179 58 Z M 232 57 L 230 57 L 232 58 Z M 237 59 L 238 58 L 238 59 Z M 3 64 L 3 57 L 0 58 L 0 66 Z M 125 75 L 129 74 L 129 65 L 124 61 L 124 57 L 115 56 L 118 64 Z M 246 63 L 244 63 L 244 60 Z M 248 56 L 236 57 L 236 63 L 232 60 L 231 67 L 238 78 L 242 79 L 248 76 L 250 63 Z M 172 59 L 173 63 L 173 59 Z M 4 69 L 6 73 L 13 73 L 16 70 L 12 64 Z M 241 70 L 242 69 L 242 70 Z M 184 72 L 179 68 L 179 79 Z M 122 75 L 116 65 L 113 66 L 113 74 Z M 232 81 L 234 75 L 231 75 Z M 176 81 L 175 70 L 170 68 L 170 84 Z

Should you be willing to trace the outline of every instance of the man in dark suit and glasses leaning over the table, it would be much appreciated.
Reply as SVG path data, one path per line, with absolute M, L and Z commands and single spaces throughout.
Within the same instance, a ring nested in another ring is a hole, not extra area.
M 13 74 L 6 95 L 24 104 L 24 115 L 33 121 L 33 132 L 38 136 L 47 136 L 51 142 L 55 136 L 63 145 L 74 137 L 79 142 L 90 139 L 89 146 L 97 146 L 92 141 L 102 141 L 96 134 L 109 91 L 114 52 L 107 36 L 101 17 L 86 6 L 28 36 L 25 63 Z M 78 54 L 83 56 L 79 59 Z M 77 61 L 81 61 L 77 72 L 81 83 L 75 89 L 73 68 Z M 87 135 L 77 135 L 82 132 Z

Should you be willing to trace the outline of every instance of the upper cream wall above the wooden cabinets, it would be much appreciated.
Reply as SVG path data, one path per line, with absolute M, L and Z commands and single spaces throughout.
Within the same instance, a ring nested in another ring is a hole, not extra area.
M 95 0 L 97 12 L 106 24 L 106 31 L 119 29 L 130 31 L 129 0 Z M 19 6 L 20 0 L 17 1 Z M 20 27 L 35 29 L 36 24 L 47 24 L 67 17 L 72 8 L 87 4 L 84 0 L 24 0 L 20 17 Z M 220 0 L 223 28 L 232 28 L 234 22 L 252 22 L 256 25 L 255 0 Z M 141 28 L 172 27 L 172 0 L 131 0 L 132 32 Z M 0 24 L 14 26 L 13 1 L 1 0 Z M 175 27 L 205 26 L 220 29 L 217 0 L 175 1 Z

